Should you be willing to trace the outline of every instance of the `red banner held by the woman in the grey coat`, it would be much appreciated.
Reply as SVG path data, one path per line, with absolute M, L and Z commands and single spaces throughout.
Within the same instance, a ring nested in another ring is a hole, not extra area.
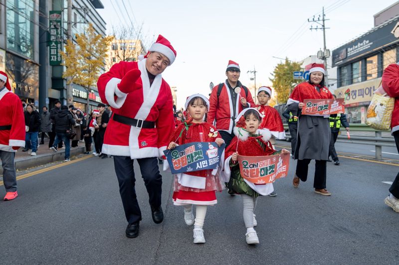
M 302 109 L 303 115 L 330 115 L 345 113 L 343 98 L 337 99 L 305 99 Z

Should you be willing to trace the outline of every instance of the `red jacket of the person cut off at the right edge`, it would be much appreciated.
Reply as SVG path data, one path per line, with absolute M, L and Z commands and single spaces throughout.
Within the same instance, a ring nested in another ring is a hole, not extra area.
M 395 97 L 394 111 L 392 112 L 392 133 L 399 131 L 399 65 L 389 65 L 383 73 L 383 88 L 390 97 Z

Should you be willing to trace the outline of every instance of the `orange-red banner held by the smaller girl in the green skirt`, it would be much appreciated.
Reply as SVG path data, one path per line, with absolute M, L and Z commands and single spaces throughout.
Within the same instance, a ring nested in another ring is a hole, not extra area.
M 290 165 L 290 154 L 274 156 L 247 157 L 238 155 L 241 176 L 255 184 L 272 183 L 286 177 Z

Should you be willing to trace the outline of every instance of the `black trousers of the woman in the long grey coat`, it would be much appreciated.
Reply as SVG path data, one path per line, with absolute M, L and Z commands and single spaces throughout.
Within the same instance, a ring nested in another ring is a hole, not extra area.
M 298 160 L 296 164 L 296 176 L 298 176 L 302 181 L 308 179 L 308 166 L 311 159 Z M 315 168 L 315 179 L 313 181 L 313 187 L 317 189 L 326 188 L 326 178 L 327 178 L 327 161 L 326 160 L 316 160 Z

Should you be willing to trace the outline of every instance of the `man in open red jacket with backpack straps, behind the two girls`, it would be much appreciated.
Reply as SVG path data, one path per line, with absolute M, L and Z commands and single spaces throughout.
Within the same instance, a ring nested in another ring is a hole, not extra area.
M 240 66 L 228 61 L 226 81 L 212 89 L 209 97 L 207 122 L 215 127 L 223 138 L 226 147 L 234 137 L 234 120 L 244 108 L 253 107 L 251 92 L 238 81 Z

